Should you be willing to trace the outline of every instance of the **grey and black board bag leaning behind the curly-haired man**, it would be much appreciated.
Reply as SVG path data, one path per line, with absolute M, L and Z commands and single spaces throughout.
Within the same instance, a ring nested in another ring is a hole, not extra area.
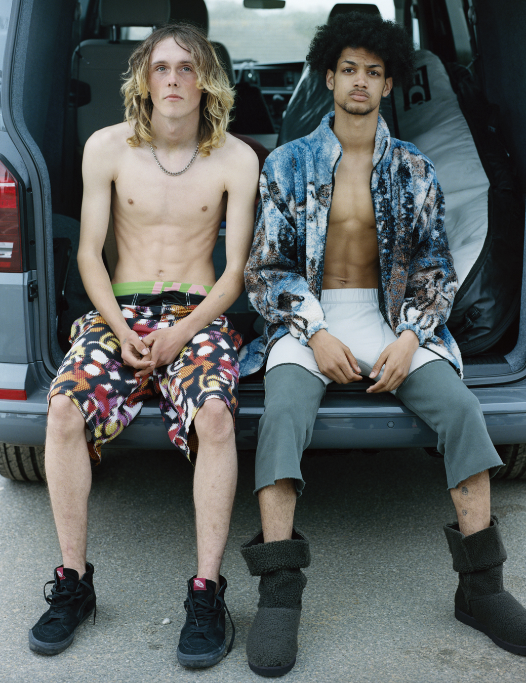
M 449 73 L 448 73 L 449 72 Z M 460 64 L 421 50 L 407 93 L 395 89 L 400 138 L 437 169 L 460 286 L 447 326 L 462 354 L 492 348 L 520 305 L 523 210 L 499 113 Z

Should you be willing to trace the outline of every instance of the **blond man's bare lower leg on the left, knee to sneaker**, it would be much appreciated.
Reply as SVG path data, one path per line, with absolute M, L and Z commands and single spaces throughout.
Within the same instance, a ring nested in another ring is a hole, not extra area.
M 46 431 L 46 479 L 64 567 L 86 570 L 87 498 L 92 468 L 85 421 L 64 394 L 51 399 Z

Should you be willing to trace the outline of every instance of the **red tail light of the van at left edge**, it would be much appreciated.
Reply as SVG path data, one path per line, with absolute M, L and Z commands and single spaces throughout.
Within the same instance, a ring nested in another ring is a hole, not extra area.
M 22 272 L 18 182 L 0 161 L 0 273 Z

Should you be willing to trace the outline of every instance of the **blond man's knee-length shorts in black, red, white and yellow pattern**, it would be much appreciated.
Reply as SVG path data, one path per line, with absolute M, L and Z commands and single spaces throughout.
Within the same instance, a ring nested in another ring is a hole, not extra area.
M 121 305 L 130 329 L 146 337 L 189 315 L 195 306 Z M 184 346 L 170 365 L 136 379 L 134 368 L 122 363 L 120 344 L 98 311 L 90 311 L 71 328 L 70 350 L 51 383 L 48 402 L 57 393 L 68 396 L 81 411 L 89 431 L 88 450 L 100 462 L 100 447 L 118 436 L 145 401 L 158 396 L 161 415 L 172 443 L 195 457 L 197 436 L 190 428 L 197 410 L 209 398 L 238 407 L 238 349 L 242 337 L 230 320 L 219 316 Z

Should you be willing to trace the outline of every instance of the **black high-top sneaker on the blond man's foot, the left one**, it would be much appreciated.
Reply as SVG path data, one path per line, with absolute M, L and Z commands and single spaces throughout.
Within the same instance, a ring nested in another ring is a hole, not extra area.
M 97 608 L 93 572 L 93 565 L 89 562 L 82 579 L 74 569 L 55 569 L 50 596 L 46 596 L 46 585 L 53 581 L 44 584 L 44 598 L 51 607 L 29 630 L 30 650 L 39 654 L 59 654 L 71 645 L 77 626 L 85 622 L 92 612 L 95 623 Z

